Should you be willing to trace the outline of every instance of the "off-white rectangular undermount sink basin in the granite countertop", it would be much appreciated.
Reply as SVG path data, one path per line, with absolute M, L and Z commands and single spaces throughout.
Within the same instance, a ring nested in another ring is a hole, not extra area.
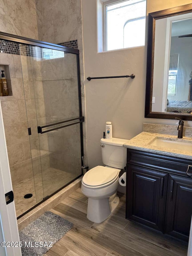
M 192 152 L 192 140 L 156 137 L 149 145 Z

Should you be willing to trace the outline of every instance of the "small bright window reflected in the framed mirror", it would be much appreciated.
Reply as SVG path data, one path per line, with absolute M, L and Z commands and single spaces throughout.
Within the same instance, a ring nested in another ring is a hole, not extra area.
M 176 95 L 179 54 L 171 54 L 167 95 Z

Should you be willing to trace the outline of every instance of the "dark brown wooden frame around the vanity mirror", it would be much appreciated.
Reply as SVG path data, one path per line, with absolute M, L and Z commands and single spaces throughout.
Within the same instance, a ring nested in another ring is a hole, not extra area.
M 149 13 L 148 19 L 148 43 L 147 43 L 147 76 L 146 76 L 146 101 L 145 117 L 160 119 L 175 119 L 192 121 L 191 114 L 185 113 L 161 113 L 152 112 L 152 93 L 153 93 L 153 68 L 154 68 L 154 50 L 155 50 L 155 21 L 167 17 L 186 14 L 192 12 L 192 4 L 182 5 L 162 11 Z

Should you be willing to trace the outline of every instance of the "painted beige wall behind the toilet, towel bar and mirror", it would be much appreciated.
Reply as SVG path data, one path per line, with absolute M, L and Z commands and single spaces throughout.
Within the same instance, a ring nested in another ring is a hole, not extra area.
M 183 0 L 182 5 L 190 0 Z M 148 0 L 147 13 L 181 5 L 179 0 Z M 82 0 L 85 80 L 88 76 L 135 74 L 135 78 L 85 81 L 87 149 L 89 168 L 102 164 L 100 139 L 105 122 L 113 124 L 113 137 L 131 139 L 143 122 L 175 125 L 175 120 L 144 118 L 146 89 L 145 47 L 97 52 L 96 1 Z M 185 122 L 185 126 L 192 126 Z

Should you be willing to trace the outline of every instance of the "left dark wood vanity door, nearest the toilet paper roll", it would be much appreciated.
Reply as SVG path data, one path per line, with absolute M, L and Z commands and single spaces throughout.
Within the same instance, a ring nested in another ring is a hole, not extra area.
M 163 232 L 168 174 L 127 165 L 126 218 Z

